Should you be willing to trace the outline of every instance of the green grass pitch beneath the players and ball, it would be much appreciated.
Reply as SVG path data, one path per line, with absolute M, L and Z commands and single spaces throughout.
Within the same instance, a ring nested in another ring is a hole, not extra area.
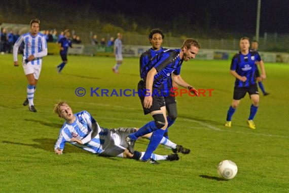
M 19 56 L 20 59 L 20 56 Z M 223 126 L 232 101 L 234 78 L 230 61 L 189 61 L 182 77 L 196 88 L 214 89 L 211 97 L 177 97 L 178 118 L 169 128 L 170 140 L 191 149 L 177 162 L 160 165 L 133 159 L 99 157 L 67 144 L 62 155 L 54 143 L 63 124 L 54 104 L 67 101 L 74 112 L 87 110 L 103 127 L 141 127 L 144 116 L 138 97 L 90 97 L 90 88 L 136 89 L 138 58 L 124 58 L 120 74 L 112 72 L 114 58 L 68 56 L 62 74 L 60 57 L 44 58 L 35 92 L 37 113 L 22 103 L 27 81 L 12 55 L 0 55 L 0 192 L 289 192 L 288 85 L 289 65 L 266 63 L 265 88 L 255 118 L 256 130 L 247 127 L 250 100 L 241 101 L 232 127 Z M 75 90 L 87 90 L 77 97 Z M 136 143 L 145 151 L 148 140 Z M 158 154 L 171 150 L 159 146 Z M 216 167 L 224 159 L 238 166 L 237 176 L 220 180 Z

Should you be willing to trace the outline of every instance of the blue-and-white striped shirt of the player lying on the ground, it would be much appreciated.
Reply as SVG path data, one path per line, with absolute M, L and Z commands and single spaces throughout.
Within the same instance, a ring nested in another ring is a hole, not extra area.
M 105 139 L 110 138 L 110 136 L 107 135 L 107 128 L 101 128 L 87 111 L 76 113 L 75 116 L 76 120 L 73 123 L 69 124 L 65 122 L 63 124 L 54 149 L 60 148 L 63 150 L 65 142 L 69 142 L 84 150 L 100 154 L 103 151 L 102 145 Z M 96 127 L 94 127 L 94 132 L 92 130 L 93 125 Z M 77 138 L 81 140 L 83 144 L 72 142 L 71 138 Z

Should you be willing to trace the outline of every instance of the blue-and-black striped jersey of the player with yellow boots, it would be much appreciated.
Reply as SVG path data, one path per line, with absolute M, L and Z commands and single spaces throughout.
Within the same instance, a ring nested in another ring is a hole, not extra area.
M 236 71 L 238 75 L 247 78 L 245 82 L 236 78 L 235 86 L 248 87 L 252 84 L 256 84 L 256 61 L 261 61 L 261 57 L 256 51 L 249 51 L 247 55 L 243 55 L 241 52 L 234 55 L 230 69 Z

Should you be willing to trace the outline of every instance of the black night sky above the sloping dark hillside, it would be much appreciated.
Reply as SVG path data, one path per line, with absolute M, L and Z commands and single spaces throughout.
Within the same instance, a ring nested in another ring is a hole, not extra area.
M 125 15 L 170 20 L 184 17 L 184 24 L 230 31 L 255 33 L 257 0 L 218 1 L 66 1 L 82 6 L 90 3 L 95 10 L 121 12 Z M 262 0 L 260 32 L 288 33 L 289 1 Z M 182 22 L 182 21 L 180 21 Z

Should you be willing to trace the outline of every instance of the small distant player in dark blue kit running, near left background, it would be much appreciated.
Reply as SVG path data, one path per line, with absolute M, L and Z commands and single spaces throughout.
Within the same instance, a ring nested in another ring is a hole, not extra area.
M 64 66 L 67 63 L 67 52 L 68 52 L 68 47 L 72 48 L 71 40 L 69 39 L 70 37 L 70 32 L 68 29 L 64 31 L 64 37 L 58 40 L 58 46 L 60 49 L 60 57 L 62 59 L 62 62 L 60 65 L 56 67 L 57 72 L 60 73 Z

